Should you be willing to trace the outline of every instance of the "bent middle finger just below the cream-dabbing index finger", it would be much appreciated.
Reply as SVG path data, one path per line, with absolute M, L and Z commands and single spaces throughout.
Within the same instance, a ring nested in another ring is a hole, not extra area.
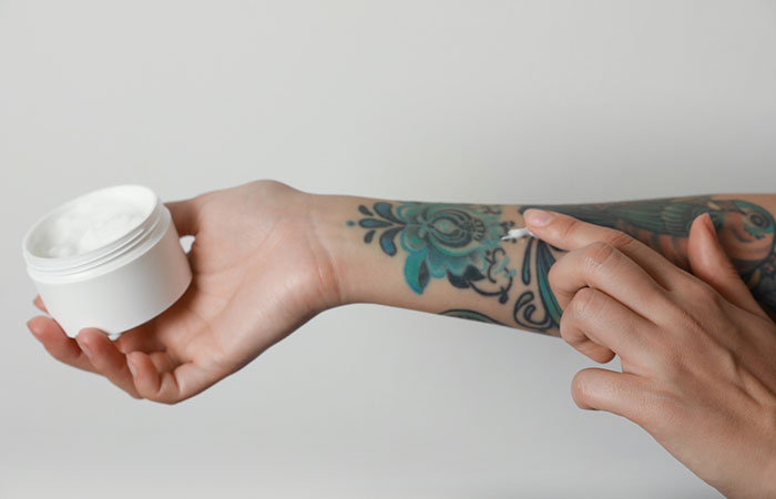
M 666 261 L 666 265 L 671 265 Z M 651 317 L 665 301 L 665 289 L 642 267 L 605 243 L 563 255 L 550 268 L 550 287 L 562 309 L 584 287 L 595 287 L 633 312 Z

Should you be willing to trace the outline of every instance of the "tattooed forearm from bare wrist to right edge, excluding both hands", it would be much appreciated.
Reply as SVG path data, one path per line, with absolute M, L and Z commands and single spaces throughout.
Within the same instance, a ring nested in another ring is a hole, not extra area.
M 718 195 L 586 205 L 482 205 L 312 195 L 317 236 L 345 303 L 376 303 L 559 335 L 548 283 L 563 252 L 538 240 L 502 240 L 544 207 L 620 228 L 687 268 L 692 221 L 712 215 L 723 246 L 755 297 L 776 309 L 774 197 Z

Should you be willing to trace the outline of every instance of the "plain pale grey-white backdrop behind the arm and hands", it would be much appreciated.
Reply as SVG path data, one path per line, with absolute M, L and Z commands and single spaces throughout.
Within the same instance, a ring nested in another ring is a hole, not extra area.
M 774 1 L 0 0 L 0 497 L 714 497 L 576 408 L 593 363 L 562 340 L 416 310 L 328 310 L 193 399 L 134 400 L 27 330 L 21 237 L 125 182 L 773 192 L 774 89 Z

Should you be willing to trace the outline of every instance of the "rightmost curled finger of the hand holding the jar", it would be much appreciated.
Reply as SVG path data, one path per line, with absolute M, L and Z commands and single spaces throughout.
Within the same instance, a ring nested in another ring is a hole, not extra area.
M 160 370 L 157 360 L 143 352 L 132 352 L 127 363 L 139 394 L 150 400 L 175 404 L 190 398 L 213 384 L 213 377 L 193 363 L 172 370 Z

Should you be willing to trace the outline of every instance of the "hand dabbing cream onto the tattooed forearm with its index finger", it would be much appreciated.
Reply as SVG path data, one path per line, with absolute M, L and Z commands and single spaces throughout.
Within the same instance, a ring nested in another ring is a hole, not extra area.
M 545 212 L 547 213 L 547 212 Z M 610 228 L 558 213 L 531 231 L 569 251 L 550 271 L 561 336 L 622 373 L 573 379 L 583 409 L 624 416 L 722 493 L 776 497 L 776 325 L 734 269 L 707 214 L 690 232 L 694 275 Z

